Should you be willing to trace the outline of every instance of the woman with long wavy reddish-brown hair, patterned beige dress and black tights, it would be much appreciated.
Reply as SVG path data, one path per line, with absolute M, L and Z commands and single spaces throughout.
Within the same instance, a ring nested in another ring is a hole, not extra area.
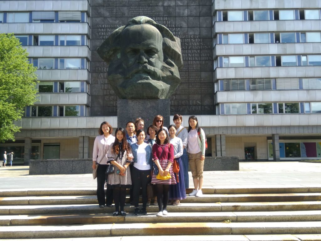
M 126 139 L 125 129 L 119 127 L 115 131 L 115 142 L 108 153 L 108 162 L 115 166 L 115 172 L 108 175 L 108 185 L 114 190 L 115 212 L 114 217 L 119 214 L 126 216 L 124 211 L 126 201 L 126 188 L 131 188 L 130 171 L 127 171 L 132 162 L 132 151 Z M 130 160 L 128 160 L 130 159 Z M 119 212 L 120 205 L 120 212 Z

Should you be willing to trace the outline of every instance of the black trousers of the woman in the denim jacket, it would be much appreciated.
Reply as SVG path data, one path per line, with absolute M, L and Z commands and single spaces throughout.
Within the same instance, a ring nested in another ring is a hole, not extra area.
M 151 170 L 139 170 L 133 166 L 132 172 L 130 174 L 132 175 L 132 178 L 133 178 L 132 185 L 133 185 L 134 206 L 138 207 L 140 189 L 142 188 L 143 208 L 146 208 L 147 184 L 152 180 Z

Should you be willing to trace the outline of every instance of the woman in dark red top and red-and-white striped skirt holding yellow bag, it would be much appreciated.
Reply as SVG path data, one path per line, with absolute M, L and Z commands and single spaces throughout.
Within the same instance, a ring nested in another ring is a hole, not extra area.
M 157 132 L 156 143 L 152 148 L 153 161 L 158 167 L 160 176 L 170 175 L 167 180 L 160 180 L 156 178 L 153 173 L 152 183 L 156 184 L 157 202 L 159 212 L 157 216 L 167 215 L 167 203 L 169 200 L 169 185 L 176 184 L 175 176 L 173 173 L 174 161 L 174 147 L 169 143 L 168 134 L 165 129 L 161 128 Z

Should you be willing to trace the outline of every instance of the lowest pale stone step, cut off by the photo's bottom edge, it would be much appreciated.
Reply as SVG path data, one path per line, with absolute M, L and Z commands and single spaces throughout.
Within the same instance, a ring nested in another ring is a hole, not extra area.
M 114 236 L 114 237 L 86 237 L 86 238 L 50 238 L 50 241 L 164 241 L 163 235 L 155 236 Z M 4 239 L 0 239 L 4 240 Z M 6 239 L 8 240 L 8 239 Z M 9 239 L 10 241 L 12 239 Z M 17 239 L 30 241 L 30 239 Z M 320 241 L 321 234 L 272 234 L 272 235 L 168 235 L 166 241 Z M 32 239 L 43 241 L 43 239 Z

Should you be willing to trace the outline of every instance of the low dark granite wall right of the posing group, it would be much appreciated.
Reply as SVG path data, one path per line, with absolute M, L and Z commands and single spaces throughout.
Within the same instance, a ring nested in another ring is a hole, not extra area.
M 204 171 L 239 171 L 239 157 L 206 156 Z

